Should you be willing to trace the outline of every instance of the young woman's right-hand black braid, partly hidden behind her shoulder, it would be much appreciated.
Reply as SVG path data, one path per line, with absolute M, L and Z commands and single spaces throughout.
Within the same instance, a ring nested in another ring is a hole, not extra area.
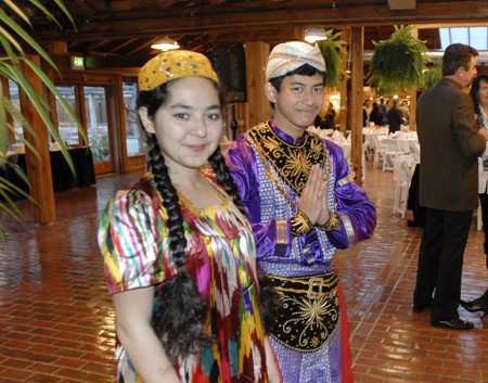
M 208 158 L 208 162 L 215 170 L 217 182 L 226 189 L 226 192 L 232 197 L 234 205 L 245 217 L 247 217 L 247 213 L 242 204 L 241 195 L 230 176 L 229 167 L 227 166 L 219 148 L 217 148 L 214 154 Z M 281 297 L 271 284 L 269 277 L 259 267 L 259 264 L 258 283 L 262 321 L 265 323 L 265 330 L 269 333 L 278 315 Z

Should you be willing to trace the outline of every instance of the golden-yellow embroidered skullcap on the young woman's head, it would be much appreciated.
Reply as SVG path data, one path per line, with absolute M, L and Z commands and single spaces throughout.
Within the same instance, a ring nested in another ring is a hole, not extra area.
M 139 73 L 139 90 L 151 90 L 167 81 L 200 76 L 219 82 L 210 61 L 197 52 L 172 50 L 147 61 Z

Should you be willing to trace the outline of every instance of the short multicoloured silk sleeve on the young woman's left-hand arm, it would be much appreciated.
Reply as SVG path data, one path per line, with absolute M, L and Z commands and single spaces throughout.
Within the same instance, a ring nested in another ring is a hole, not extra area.
M 108 293 L 164 280 L 167 265 L 159 256 L 158 222 L 151 199 L 141 190 L 120 191 L 108 201 L 98 235 Z

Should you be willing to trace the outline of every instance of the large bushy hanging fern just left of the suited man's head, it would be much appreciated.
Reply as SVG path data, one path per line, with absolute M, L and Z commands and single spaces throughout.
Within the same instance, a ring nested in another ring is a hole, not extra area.
M 376 93 L 394 94 L 400 90 L 423 89 L 427 47 L 412 36 L 413 26 L 395 26 L 388 40 L 373 41 L 375 48 L 368 84 Z

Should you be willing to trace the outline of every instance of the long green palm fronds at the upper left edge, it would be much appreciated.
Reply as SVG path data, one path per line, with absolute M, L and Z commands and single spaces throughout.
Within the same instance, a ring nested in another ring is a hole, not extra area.
M 36 65 L 31 60 L 29 60 L 24 52 L 24 49 L 28 48 L 29 51 L 38 54 L 47 63 L 47 65 L 54 68 L 54 71 L 57 71 L 54 62 L 50 59 L 49 54 L 30 36 L 28 31 L 28 28 L 30 27 L 28 16 L 21 8 L 15 4 L 13 0 L 3 0 L 3 3 L 5 7 L 0 8 L 0 76 L 8 80 L 14 81 L 18 86 L 18 89 L 24 92 L 25 95 L 30 100 L 31 105 L 34 105 L 35 110 L 42 118 L 42 122 L 46 124 L 50 135 L 60 144 L 64 157 L 69 164 L 72 170 L 74 170 L 73 162 L 69 157 L 66 146 L 63 144 L 63 141 L 55 128 L 55 124 L 51 119 L 49 113 L 50 106 L 46 102 L 46 94 L 39 94 L 33 89 L 29 81 L 27 81 L 26 77 L 24 76 L 23 65 L 28 66 L 43 82 L 47 91 L 52 92 L 55 95 L 55 98 L 63 105 L 73 120 L 77 124 L 79 132 L 86 139 L 85 132 L 81 128 L 80 123 L 78 122 L 78 117 L 75 115 L 69 104 L 59 92 L 46 72 L 43 72 L 41 67 Z M 40 1 L 30 0 L 30 3 L 34 7 L 37 7 L 41 11 L 41 13 L 46 15 L 46 17 L 61 27 L 52 13 L 47 8 L 44 8 Z M 69 15 L 69 12 L 63 4 L 62 0 L 53 0 L 53 3 L 68 17 L 68 20 L 74 25 L 74 21 Z M 9 13 L 7 11 L 9 11 Z M 24 27 L 23 25 L 25 25 L 26 27 Z M 4 97 L 5 91 L 2 84 L 4 82 L 0 81 L 0 154 L 7 153 L 10 143 L 9 137 L 11 132 L 15 133 L 13 124 L 11 123 L 12 120 L 16 120 L 18 124 L 21 124 L 24 130 L 29 132 L 29 136 L 36 137 L 36 132 L 30 126 L 28 119 L 23 116 L 22 111 L 18 110 L 18 107 L 16 107 L 9 100 L 9 98 Z M 15 140 L 17 142 L 20 141 L 24 143 L 33 151 L 33 153 L 36 154 L 34 146 L 27 140 L 25 140 L 23 136 L 15 135 Z M 22 168 L 20 168 L 15 164 L 7 162 L 4 156 L 0 156 L 0 165 L 3 167 L 12 167 L 15 173 L 28 184 L 27 177 Z M 9 182 L 9 180 L 7 180 L 5 178 L 0 177 L 0 210 L 3 210 L 17 221 L 23 222 L 24 217 L 22 215 L 22 212 L 18 209 L 15 201 L 12 199 L 12 195 L 14 194 L 22 194 L 25 197 L 29 197 L 26 192 Z M 0 219 L 0 238 L 4 239 L 5 237 L 12 238 L 12 234 L 9 231 L 9 228 L 5 225 L 4 220 Z

